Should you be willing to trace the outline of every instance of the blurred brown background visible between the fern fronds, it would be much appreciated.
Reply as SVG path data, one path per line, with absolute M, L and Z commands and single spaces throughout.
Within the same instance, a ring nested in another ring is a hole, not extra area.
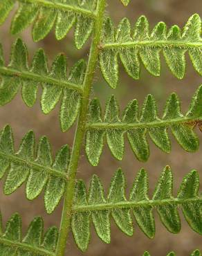
M 165 21 L 167 26 L 172 26 L 173 24 L 178 24 L 178 26 L 183 26 L 187 19 L 194 12 L 198 12 L 202 15 L 202 2 L 201 0 L 131 0 L 131 3 L 127 8 L 124 8 L 120 1 L 110 0 L 108 1 L 109 6 L 107 7 L 107 12 L 110 13 L 113 20 L 118 23 L 122 17 L 129 17 L 132 24 L 140 15 L 146 15 L 149 19 L 151 28 L 154 27 L 156 22 Z M 10 18 L 12 15 L 10 15 Z M 10 45 L 15 40 L 15 37 L 10 36 L 9 33 L 10 19 L 6 21 L 6 24 L 0 28 L 1 42 L 3 43 L 3 48 L 6 56 L 6 60 L 9 59 Z M 55 40 L 54 33 L 48 35 L 42 42 L 38 44 L 33 43 L 30 33 L 30 28 L 28 28 L 21 37 L 24 39 L 26 44 L 28 44 L 28 51 L 30 53 L 30 60 L 33 57 L 33 53 L 39 47 L 43 47 L 48 54 L 48 60 L 53 61 L 55 55 L 59 52 L 66 53 L 68 57 L 68 64 L 71 66 L 76 60 L 81 57 L 86 58 L 89 46 L 86 44 L 81 51 L 77 51 L 73 44 L 73 30 L 68 33 L 67 37 L 57 42 Z M 120 65 L 121 66 L 121 65 Z M 100 70 L 95 75 L 94 79 L 94 92 L 93 96 L 97 96 L 101 99 L 102 105 L 104 106 L 105 101 L 114 93 L 120 102 L 121 109 L 125 107 L 127 102 L 132 98 L 138 98 L 140 105 L 147 93 L 152 93 L 159 107 L 159 113 L 161 115 L 165 100 L 170 93 L 178 93 L 182 101 L 183 113 L 187 110 L 190 104 L 190 99 L 198 88 L 199 84 L 202 83 L 201 77 L 194 71 L 192 64 L 190 64 L 190 59 L 187 57 L 187 70 L 186 75 L 183 80 L 177 80 L 169 71 L 165 60 L 162 58 L 162 69 L 160 77 L 153 77 L 145 68 L 142 67 L 140 80 L 132 80 L 120 67 L 120 80 L 118 88 L 116 90 L 110 89 L 109 86 L 104 82 L 102 75 L 100 75 Z M 39 91 L 40 95 L 41 91 Z M 38 97 L 39 98 L 39 97 Z M 50 143 L 53 146 L 53 154 L 55 151 L 63 144 L 68 143 L 72 145 L 73 143 L 73 132 L 75 127 L 73 127 L 68 132 L 62 134 L 59 129 L 59 106 L 50 114 L 45 116 L 40 110 L 39 100 L 35 106 L 31 109 L 26 107 L 26 105 L 21 100 L 21 95 L 17 95 L 10 104 L 5 107 L 0 108 L 0 127 L 2 128 L 7 123 L 10 124 L 14 130 L 15 134 L 15 146 L 16 149 L 19 147 L 19 142 L 29 129 L 33 129 L 37 136 L 46 135 L 50 139 Z M 197 131 L 199 138 L 202 139 L 202 134 Z M 149 172 L 149 186 L 150 186 L 150 196 L 154 191 L 155 183 L 163 170 L 165 165 L 171 165 L 174 172 L 174 194 L 178 190 L 178 187 L 182 181 L 183 176 L 190 172 L 192 169 L 199 170 L 200 178 L 202 181 L 202 144 L 200 146 L 199 152 L 194 154 L 188 154 L 184 152 L 183 149 L 176 143 L 176 140 L 172 138 L 172 153 L 167 155 L 160 151 L 151 140 L 150 143 L 150 158 L 147 163 L 140 163 L 134 157 L 131 152 L 129 145 L 126 141 L 125 144 L 125 156 L 122 162 L 116 161 L 111 154 L 109 149 L 105 145 L 104 153 L 102 154 L 100 164 L 98 167 L 92 167 L 86 161 L 86 156 L 82 152 L 80 158 L 80 167 L 77 172 L 77 177 L 84 179 L 89 185 L 89 180 L 93 173 L 100 176 L 100 179 L 104 183 L 104 188 L 109 188 L 109 182 L 113 172 L 118 168 L 122 167 L 127 176 L 128 188 L 131 188 L 131 183 L 136 176 L 140 167 L 145 167 Z M 4 180 L 4 179 L 3 179 Z M 42 215 L 44 217 L 44 226 L 47 228 L 51 225 L 59 226 L 59 219 L 61 217 L 62 203 L 59 204 L 55 212 L 51 215 L 46 214 L 44 210 L 44 199 L 43 195 L 39 198 L 30 202 L 25 196 L 24 185 L 17 190 L 11 196 L 3 195 L 3 181 L 0 183 L 0 205 L 1 212 L 3 214 L 3 221 L 8 219 L 13 212 L 19 212 L 23 219 L 23 228 L 26 230 L 28 223 L 36 215 Z M 181 211 L 180 211 L 181 213 Z M 84 254 L 88 256 L 139 256 L 142 255 L 144 250 L 149 250 L 151 255 L 160 256 L 166 255 L 170 250 L 174 250 L 178 256 L 190 255 L 190 252 L 194 248 L 199 248 L 202 250 L 202 237 L 197 235 L 194 231 L 190 229 L 181 214 L 182 229 L 180 234 L 172 235 L 167 232 L 163 224 L 160 223 L 159 217 L 155 212 L 156 219 L 156 237 L 152 240 L 145 237 L 143 232 L 140 231 L 138 226 L 134 221 L 135 233 L 133 237 L 127 237 L 124 235 L 114 222 L 111 220 L 111 244 L 107 245 L 102 243 L 95 234 L 95 230 L 92 229 L 91 243 L 89 250 Z M 83 255 L 75 246 L 72 235 L 68 239 L 68 253 L 66 255 L 79 256 Z

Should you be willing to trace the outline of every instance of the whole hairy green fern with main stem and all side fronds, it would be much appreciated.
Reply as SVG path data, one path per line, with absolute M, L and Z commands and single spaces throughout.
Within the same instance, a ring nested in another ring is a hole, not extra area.
M 127 6 L 129 0 L 121 0 Z M 165 103 L 163 116 L 158 116 L 156 100 L 147 95 L 139 110 L 138 101 L 131 100 L 120 116 L 119 104 L 114 95 L 107 101 L 104 115 L 97 98 L 91 99 L 95 68 L 100 63 L 104 79 L 112 87 L 118 84 L 119 58 L 125 71 L 135 80 L 140 78 L 140 60 L 149 73 L 160 75 L 160 52 L 163 52 L 170 71 L 178 79 L 185 75 L 185 53 L 189 53 L 194 69 L 202 75 L 201 17 L 194 14 L 183 30 L 174 25 L 167 30 L 159 22 L 152 32 L 145 16 L 136 21 L 134 28 L 128 19 L 122 19 L 118 28 L 110 17 L 104 15 L 106 0 L 0 0 L 0 24 L 6 21 L 16 7 L 10 31 L 20 33 L 33 24 L 33 40 L 44 39 L 55 26 L 56 39 L 63 39 L 75 26 L 75 46 L 80 49 L 91 37 L 89 60 L 77 61 L 67 72 L 66 57 L 59 54 L 48 68 L 43 49 L 39 49 L 31 65 L 28 50 L 21 39 L 12 45 L 10 62 L 5 63 L 0 45 L 0 106 L 10 102 L 21 89 L 28 107 L 37 100 L 42 85 L 41 107 L 48 114 L 61 100 L 59 120 L 62 131 L 67 131 L 77 120 L 74 143 L 70 152 L 62 146 L 53 160 L 50 143 L 46 136 L 39 139 L 35 150 L 33 131 L 22 138 L 15 152 L 12 129 L 6 125 L 0 134 L 0 179 L 4 176 L 3 192 L 11 194 L 26 183 L 26 197 L 35 199 L 44 190 L 44 205 L 49 214 L 61 199 L 64 201 L 60 228 L 50 227 L 43 235 L 43 221 L 35 217 L 24 238 L 21 234 L 21 217 L 15 213 L 2 228 L 0 220 L 0 255 L 7 256 L 64 256 L 68 233 L 73 232 L 75 243 L 85 251 L 90 241 L 90 223 L 93 222 L 98 237 L 105 243 L 111 241 L 111 217 L 126 235 L 134 234 L 132 215 L 140 229 L 149 238 L 155 235 L 154 211 L 169 232 L 181 230 L 178 210 L 182 210 L 190 228 L 202 235 L 202 197 L 199 194 L 199 174 L 192 170 L 187 174 L 173 196 L 173 174 L 166 166 L 153 196 L 148 196 L 148 175 L 141 169 L 134 179 L 129 196 L 126 196 L 126 178 L 118 169 L 111 179 L 105 196 L 103 185 L 93 175 L 89 190 L 84 181 L 76 179 L 80 152 L 84 145 L 86 158 L 91 165 L 98 165 L 104 138 L 111 154 L 122 160 L 125 135 L 138 161 L 149 158 L 147 134 L 163 152 L 171 152 L 167 130 L 187 152 L 199 149 L 195 127 L 202 127 L 202 85 L 193 95 L 190 107 L 183 115 L 181 102 L 172 93 Z M 84 143 L 85 140 L 85 143 Z M 1 215 L 0 215 L 1 217 Z M 149 256 L 148 252 L 143 254 Z M 174 256 L 173 252 L 167 256 Z M 191 256 L 200 256 L 194 250 Z

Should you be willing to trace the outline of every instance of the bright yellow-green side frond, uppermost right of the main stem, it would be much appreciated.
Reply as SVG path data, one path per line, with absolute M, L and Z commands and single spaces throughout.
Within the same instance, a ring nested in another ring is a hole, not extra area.
M 140 77 L 140 60 L 149 73 L 160 75 L 160 51 L 170 71 L 178 79 L 185 75 L 185 53 L 188 51 L 192 64 L 202 75 L 201 18 L 195 14 L 190 17 L 181 32 L 178 26 L 169 28 L 159 22 L 149 33 L 149 22 L 141 16 L 131 33 L 128 19 L 122 19 L 117 30 L 110 18 L 104 24 L 102 44 L 100 45 L 100 67 L 105 80 L 112 88 L 118 83 L 118 56 L 127 73 L 134 79 Z

